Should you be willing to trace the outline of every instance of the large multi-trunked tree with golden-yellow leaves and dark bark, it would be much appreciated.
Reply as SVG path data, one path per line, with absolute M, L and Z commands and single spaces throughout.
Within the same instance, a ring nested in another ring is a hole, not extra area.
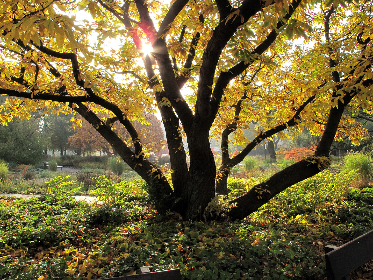
M 76 22 L 68 14 L 77 7 L 92 19 Z M 2 123 L 68 106 L 149 184 L 157 208 L 186 218 L 198 218 L 216 192 L 225 194 L 231 168 L 266 138 L 292 127 L 320 135 L 312 158 L 232 201 L 231 217 L 246 217 L 328 167 L 333 139 L 348 134 L 357 142 L 344 110 L 371 108 L 372 1 L 17 0 L 1 1 L 0 9 L 0 93 L 9 95 Z M 147 160 L 132 124 L 156 108 L 173 189 Z M 100 119 L 100 111 L 110 118 Z M 134 150 L 112 130 L 116 119 Z M 261 124 L 257 135 L 242 137 L 253 121 Z M 245 145 L 235 156 L 230 134 Z M 209 137 L 222 140 L 218 172 Z

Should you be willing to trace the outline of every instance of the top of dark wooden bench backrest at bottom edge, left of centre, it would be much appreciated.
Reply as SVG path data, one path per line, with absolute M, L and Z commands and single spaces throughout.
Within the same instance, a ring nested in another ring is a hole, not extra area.
M 148 267 L 141 267 L 141 271 L 142 273 L 140 274 L 104 278 L 101 280 L 181 280 L 181 273 L 179 268 L 148 272 Z

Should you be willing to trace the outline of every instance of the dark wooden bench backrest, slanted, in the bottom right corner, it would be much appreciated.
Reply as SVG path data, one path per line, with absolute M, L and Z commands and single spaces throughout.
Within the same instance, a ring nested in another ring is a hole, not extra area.
M 373 258 L 373 230 L 346 244 L 325 246 L 327 280 L 349 280 L 350 274 Z

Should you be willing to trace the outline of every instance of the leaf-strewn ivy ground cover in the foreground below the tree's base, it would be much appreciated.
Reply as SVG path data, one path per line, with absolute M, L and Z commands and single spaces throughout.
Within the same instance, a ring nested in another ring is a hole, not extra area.
M 323 247 L 371 230 L 372 205 L 370 188 L 312 214 L 202 223 L 157 217 L 136 202 L 0 197 L 0 279 L 99 279 L 139 273 L 144 265 L 180 268 L 183 279 L 324 279 Z M 371 279 L 372 267 L 355 277 Z

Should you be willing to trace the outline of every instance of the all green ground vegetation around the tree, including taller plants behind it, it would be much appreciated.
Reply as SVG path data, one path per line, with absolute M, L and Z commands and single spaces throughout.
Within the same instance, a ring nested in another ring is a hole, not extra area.
M 1 279 L 98 279 L 138 273 L 143 265 L 152 271 L 178 267 L 184 279 L 324 279 L 324 246 L 339 246 L 373 228 L 373 189 L 351 187 L 359 167 L 320 172 L 242 223 L 226 220 L 234 205 L 223 197 L 201 212 L 204 222 L 192 222 L 176 212 L 153 211 L 144 181 L 126 170 L 114 174 L 107 159 L 59 160 L 103 168 L 71 174 L 2 162 L 2 191 L 43 195 L 0 197 Z M 258 168 L 246 173 L 239 166 L 228 178 L 229 199 L 280 168 L 256 161 Z M 97 200 L 70 197 L 82 193 Z M 359 268 L 355 279 L 369 279 L 372 267 L 369 262 Z

